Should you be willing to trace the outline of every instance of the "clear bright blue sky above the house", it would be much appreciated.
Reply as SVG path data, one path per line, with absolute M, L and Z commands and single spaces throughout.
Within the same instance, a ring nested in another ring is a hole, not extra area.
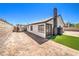
M 57 8 L 65 23 L 79 23 L 77 3 L 0 3 L 0 18 L 13 25 L 30 24 L 53 17 L 53 8 Z

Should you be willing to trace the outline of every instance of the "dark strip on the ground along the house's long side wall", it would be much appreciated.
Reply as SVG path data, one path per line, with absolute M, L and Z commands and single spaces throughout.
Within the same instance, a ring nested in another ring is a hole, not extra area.
M 30 36 L 32 39 L 34 39 L 38 44 L 43 44 L 48 41 L 48 39 L 42 38 L 33 33 L 30 33 L 30 32 L 24 32 L 24 33 L 27 34 L 28 36 Z

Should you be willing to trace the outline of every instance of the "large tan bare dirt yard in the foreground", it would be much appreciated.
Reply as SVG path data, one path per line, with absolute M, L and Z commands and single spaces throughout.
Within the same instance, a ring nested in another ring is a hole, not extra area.
M 38 39 L 38 38 L 37 38 Z M 24 32 L 13 32 L 0 47 L 0 55 L 5 56 L 71 56 L 79 51 L 48 40 L 42 44 Z

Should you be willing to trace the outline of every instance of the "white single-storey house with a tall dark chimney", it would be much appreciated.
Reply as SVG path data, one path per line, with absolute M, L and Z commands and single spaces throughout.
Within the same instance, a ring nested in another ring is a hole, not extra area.
M 57 8 L 54 8 L 54 17 L 47 18 L 45 21 L 27 25 L 27 31 L 43 38 L 50 35 L 57 35 L 63 30 L 64 22 L 60 15 L 57 15 Z M 62 29 L 58 30 L 61 27 Z

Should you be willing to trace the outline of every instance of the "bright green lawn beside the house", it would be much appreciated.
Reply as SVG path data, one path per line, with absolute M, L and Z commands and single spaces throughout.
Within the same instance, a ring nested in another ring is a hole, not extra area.
M 79 37 L 58 35 L 52 36 L 50 39 L 63 45 L 69 46 L 73 49 L 79 50 Z

